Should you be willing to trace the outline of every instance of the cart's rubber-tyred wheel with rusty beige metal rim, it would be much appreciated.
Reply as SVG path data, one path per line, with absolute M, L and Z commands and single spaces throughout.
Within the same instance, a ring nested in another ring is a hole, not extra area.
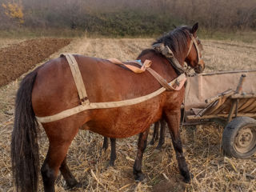
M 227 156 L 250 158 L 256 151 L 256 120 L 234 118 L 223 131 L 222 147 Z

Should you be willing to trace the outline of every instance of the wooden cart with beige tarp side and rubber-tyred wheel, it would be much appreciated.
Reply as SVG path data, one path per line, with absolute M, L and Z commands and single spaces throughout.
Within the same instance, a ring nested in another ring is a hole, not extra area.
M 224 153 L 250 158 L 256 152 L 256 70 L 198 74 L 188 78 L 184 126 L 218 122 Z

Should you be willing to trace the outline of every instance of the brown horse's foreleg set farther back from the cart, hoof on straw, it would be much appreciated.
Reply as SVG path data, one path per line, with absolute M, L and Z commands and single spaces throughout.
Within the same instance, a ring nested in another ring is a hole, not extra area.
M 142 158 L 144 150 L 146 149 L 146 140 L 149 134 L 150 127 L 146 129 L 143 133 L 139 134 L 138 138 L 138 152 L 134 162 L 134 179 L 135 181 L 141 182 L 145 176 L 142 173 Z

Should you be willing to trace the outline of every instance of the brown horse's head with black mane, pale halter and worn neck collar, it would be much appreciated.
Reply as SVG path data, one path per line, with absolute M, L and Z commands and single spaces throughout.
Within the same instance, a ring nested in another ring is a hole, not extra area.
M 169 34 L 153 43 L 154 50 L 166 56 L 174 69 L 182 74 L 186 71 L 184 62 L 196 73 L 202 73 L 205 64 L 202 60 L 202 44 L 197 37 L 198 22 L 193 27 L 178 26 Z

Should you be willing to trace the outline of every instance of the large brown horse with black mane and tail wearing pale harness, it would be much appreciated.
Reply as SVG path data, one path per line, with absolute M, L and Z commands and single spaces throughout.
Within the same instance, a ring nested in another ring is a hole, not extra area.
M 197 73 L 202 72 L 204 63 L 196 42 L 198 23 L 177 29 L 159 38 L 156 43 L 164 43 L 173 51 L 181 66 L 186 61 Z M 191 36 L 193 35 L 193 37 Z M 150 94 L 162 86 L 147 71 L 134 74 L 130 70 L 100 58 L 74 55 L 82 74 L 90 102 L 114 102 L 138 98 Z M 158 51 L 143 50 L 138 56 L 142 61 L 150 59 L 151 69 L 170 82 L 178 77 L 178 70 L 170 64 L 170 59 Z M 136 65 L 136 64 L 134 64 Z M 108 109 L 84 110 L 70 117 L 42 123 L 50 146 L 41 168 L 45 191 L 54 191 L 54 182 L 61 171 L 67 186 L 78 182 L 66 165 L 66 153 L 79 129 L 91 130 L 109 138 L 126 138 L 139 134 L 138 154 L 134 162 L 134 178 L 142 181 L 142 156 L 146 147 L 149 127 L 160 118 L 165 118 L 173 139 L 179 170 L 185 182 L 190 182 L 190 172 L 182 152 L 179 135 L 180 108 L 184 98 L 181 90 L 164 91 L 154 98 L 130 106 Z M 12 133 L 11 156 L 14 184 L 17 191 L 38 190 L 38 141 L 36 117 L 58 114 L 63 110 L 81 104 L 78 90 L 66 58 L 56 58 L 27 74 L 18 90 L 15 105 L 14 130 Z

